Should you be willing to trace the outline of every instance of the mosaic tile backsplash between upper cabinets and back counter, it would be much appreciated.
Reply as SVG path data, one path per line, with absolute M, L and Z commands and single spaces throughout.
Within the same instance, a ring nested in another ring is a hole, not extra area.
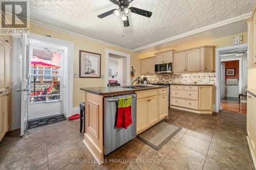
M 186 74 L 158 74 L 158 75 L 142 75 L 147 78 L 148 82 L 154 83 L 193 83 L 195 81 L 198 84 L 213 84 L 215 85 L 216 72 L 200 72 L 200 73 L 186 73 Z M 209 79 L 209 81 L 207 81 Z

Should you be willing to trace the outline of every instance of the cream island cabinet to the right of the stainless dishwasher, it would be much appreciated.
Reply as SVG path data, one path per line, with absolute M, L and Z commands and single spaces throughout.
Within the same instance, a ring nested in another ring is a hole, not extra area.
M 156 91 L 158 94 L 155 93 Z M 168 116 L 168 93 L 167 88 L 163 88 L 162 91 L 145 90 L 136 93 L 138 134 Z

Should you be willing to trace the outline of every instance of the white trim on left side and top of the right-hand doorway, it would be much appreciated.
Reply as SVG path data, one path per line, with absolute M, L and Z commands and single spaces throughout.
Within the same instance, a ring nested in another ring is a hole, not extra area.
M 220 57 L 220 53 L 222 51 L 226 51 L 226 50 L 235 50 L 237 48 L 248 48 L 248 44 L 244 43 L 244 44 L 239 44 L 239 45 L 233 45 L 233 46 L 226 46 L 226 47 L 221 47 L 221 48 L 216 48 L 216 57 L 215 57 L 215 63 L 216 63 L 216 108 L 215 108 L 215 112 L 219 112 L 221 109 L 221 92 L 220 92 L 220 79 L 221 79 L 221 57 Z M 242 81 L 241 81 L 242 82 Z

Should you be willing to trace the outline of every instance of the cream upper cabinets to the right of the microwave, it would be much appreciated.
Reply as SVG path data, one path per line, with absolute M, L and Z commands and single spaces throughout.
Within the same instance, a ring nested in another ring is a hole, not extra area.
M 173 72 L 215 71 L 214 46 L 204 46 L 174 54 Z

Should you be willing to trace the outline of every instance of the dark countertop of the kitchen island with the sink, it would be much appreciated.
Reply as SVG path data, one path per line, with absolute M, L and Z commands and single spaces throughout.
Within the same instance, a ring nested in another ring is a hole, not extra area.
M 122 86 L 84 87 L 84 88 L 80 88 L 80 90 L 97 94 L 97 95 L 110 95 L 110 94 L 131 93 L 131 92 L 141 91 L 141 90 L 152 90 L 152 89 L 165 88 L 165 87 L 168 87 L 168 86 L 148 85 L 146 87 L 138 87 L 138 88 L 126 88 Z

